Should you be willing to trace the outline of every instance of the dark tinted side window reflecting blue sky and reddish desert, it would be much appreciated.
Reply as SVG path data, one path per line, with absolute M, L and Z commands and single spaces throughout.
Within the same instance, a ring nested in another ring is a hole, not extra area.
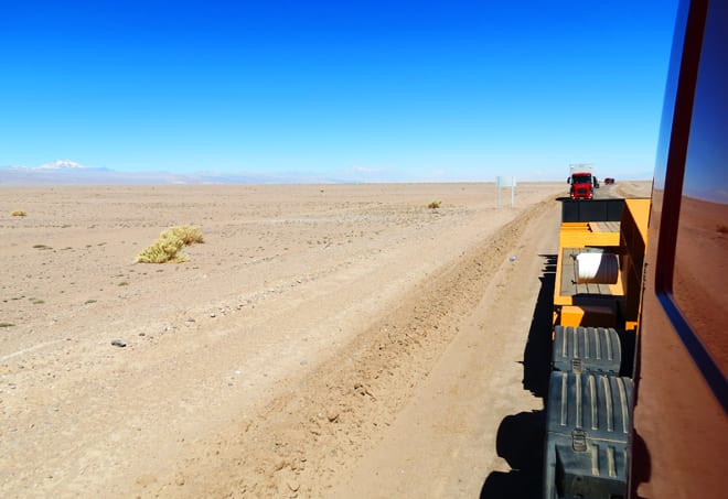
M 728 372 L 728 36 L 711 2 L 683 181 L 673 293 L 690 328 Z

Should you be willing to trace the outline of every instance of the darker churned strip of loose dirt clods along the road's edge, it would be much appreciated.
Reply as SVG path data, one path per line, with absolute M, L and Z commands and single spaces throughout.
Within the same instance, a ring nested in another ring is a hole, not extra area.
M 257 416 L 179 464 L 161 496 L 319 497 L 413 397 L 546 199 L 424 280 Z M 201 457 L 206 454 L 206 457 Z M 182 477 L 182 478 L 180 478 Z M 180 480 L 183 488 L 175 486 Z

